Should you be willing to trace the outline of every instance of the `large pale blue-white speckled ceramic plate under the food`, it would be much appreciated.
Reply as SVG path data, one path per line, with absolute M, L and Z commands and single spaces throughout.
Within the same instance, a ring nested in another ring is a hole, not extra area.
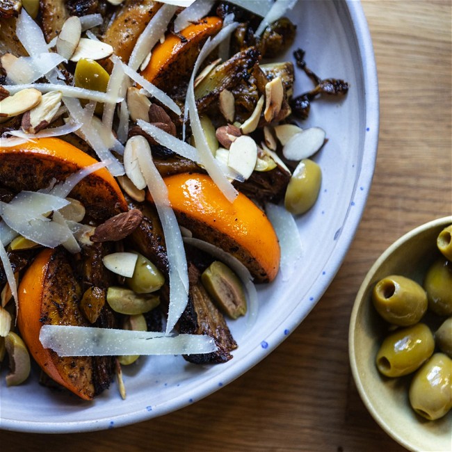
M 259 315 L 229 323 L 239 344 L 234 358 L 213 366 L 181 357 L 142 358 L 124 369 L 127 399 L 116 385 L 91 403 L 38 385 L 39 370 L 26 384 L 7 388 L 0 376 L 0 427 L 40 433 L 102 430 L 145 421 L 199 401 L 241 376 L 275 349 L 307 316 L 337 273 L 360 222 L 373 175 L 378 140 L 378 83 L 371 38 L 359 1 L 298 1 L 290 14 L 298 25 L 296 46 L 319 76 L 350 83 L 342 99 L 312 105 L 302 127 L 316 125 L 329 141 L 315 160 L 323 172 L 315 207 L 297 224 L 303 256 L 288 281 L 282 275 L 259 287 Z M 292 51 L 284 58 L 293 60 Z M 296 94 L 312 89 L 300 70 Z

